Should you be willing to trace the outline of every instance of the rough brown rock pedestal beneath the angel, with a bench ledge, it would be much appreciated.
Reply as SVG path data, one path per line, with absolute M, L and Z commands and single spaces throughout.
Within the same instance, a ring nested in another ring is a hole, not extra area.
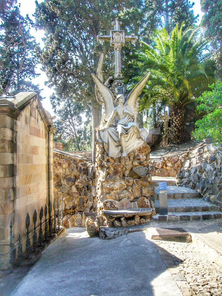
M 97 224 L 127 226 L 149 221 L 150 216 L 111 217 L 105 210 L 153 208 L 154 186 L 149 172 L 150 147 L 143 144 L 126 157 L 109 157 L 102 144 L 96 147 Z M 136 203 L 137 202 L 137 203 Z M 153 212 L 154 213 L 154 212 Z

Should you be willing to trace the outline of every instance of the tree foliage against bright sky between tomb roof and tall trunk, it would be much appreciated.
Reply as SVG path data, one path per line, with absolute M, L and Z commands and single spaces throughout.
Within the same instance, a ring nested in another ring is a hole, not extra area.
M 54 141 L 62 142 L 64 150 L 68 151 L 91 150 L 90 110 L 84 112 L 83 105 L 72 98 L 60 100 L 52 95 L 50 101 L 54 112 L 59 116 L 59 119 L 54 122 L 57 129 Z M 83 116 L 87 116 L 85 122 L 82 120 Z

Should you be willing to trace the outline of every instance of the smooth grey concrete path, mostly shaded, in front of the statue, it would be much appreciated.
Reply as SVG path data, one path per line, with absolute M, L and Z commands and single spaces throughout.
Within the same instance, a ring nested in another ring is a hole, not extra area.
M 182 296 L 146 232 L 113 240 L 67 229 L 11 296 Z

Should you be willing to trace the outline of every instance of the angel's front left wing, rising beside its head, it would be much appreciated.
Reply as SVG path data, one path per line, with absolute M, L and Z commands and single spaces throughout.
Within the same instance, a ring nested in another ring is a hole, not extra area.
M 96 84 L 96 87 L 98 89 L 98 92 L 101 94 L 102 96 L 102 100 L 103 100 L 103 115 L 101 118 L 101 125 L 102 123 L 104 123 L 105 121 L 107 121 L 111 115 L 111 113 L 113 112 L 114 109 L 114 104 L 113 104 L 113 93 L 109 90 L 108 87 L 105 86 L 105 84 L 102 83 L 102 81 L 95 75 L 92 73 L 92 78 Z

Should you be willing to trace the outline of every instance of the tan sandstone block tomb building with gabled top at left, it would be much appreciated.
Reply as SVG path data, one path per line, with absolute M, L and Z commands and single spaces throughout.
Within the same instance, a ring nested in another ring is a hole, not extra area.
M 26 216 L 53 201 L 53 142 L 55 129 L 35 92 L 20 92 L 0 100 L 0 243 L 17 241 L 27 232 Z M 31 243 L 32 243 L 32 235 Z M 22 240 L 23 251 L 26 239 Z M 1 268 L 9 267 L 9 247 L 0 246 Z

